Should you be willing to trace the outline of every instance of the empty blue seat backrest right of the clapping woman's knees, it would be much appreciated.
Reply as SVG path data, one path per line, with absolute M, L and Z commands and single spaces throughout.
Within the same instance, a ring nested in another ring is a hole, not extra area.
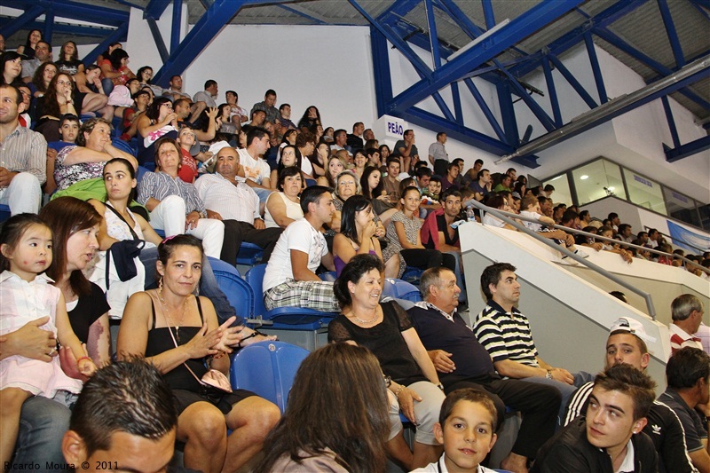
M 233 355 L 230 382 L 234 389 L 251 390 L 272 401 L 284 413 L 298 367 L 308 355 L 289 343 L 253 343 Z

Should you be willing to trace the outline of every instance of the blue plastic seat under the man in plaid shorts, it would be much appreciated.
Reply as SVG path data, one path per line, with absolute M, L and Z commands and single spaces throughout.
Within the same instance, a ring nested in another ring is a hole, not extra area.
M 264 272 L 266 264 L 256 264 L 244 276 L 254 291 L 254 316 L 272 320 L 271 328 L 287 330 L 318 330 L 325 327 L 335 313 L 314 311 L 303 307 L 279 307 L 267 311 L 264 307 Z

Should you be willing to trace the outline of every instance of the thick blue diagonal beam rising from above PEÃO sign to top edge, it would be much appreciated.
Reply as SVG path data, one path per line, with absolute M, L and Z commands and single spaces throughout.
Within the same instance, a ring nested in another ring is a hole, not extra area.
M 433 91 L 438 91 L 446 84 L 460 79 L 462 75 L 479 67 L 485 61 L 493 59 L 502 51 L 532 35 L 582 2 L 583 0 L 566 0 L 536 4 L 493 35 L 489 35 L 468 51 L 462 52 L 446 65 L 439 67 L 431 79 L 422 79 L 398 94 L 391 100 L 390 108 L 403 111 L 414 106 L 431 95 Z

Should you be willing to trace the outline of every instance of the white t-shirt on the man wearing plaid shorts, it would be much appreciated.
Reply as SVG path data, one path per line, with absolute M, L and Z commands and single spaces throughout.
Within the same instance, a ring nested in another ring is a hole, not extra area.
M 269 264 L 264 273 L 264 293 L 287 279 L 295 279 L 291 266 L 291 250 L 297 249 L 308 255 L 308 269 L 316 272 L 320 265 L 320 258 L 327 255 L 326 237 L 323 233 L 313 228 L 313 225 L 301 218 L 286 227 L 281 233 L 279 241 L 273 248 Z

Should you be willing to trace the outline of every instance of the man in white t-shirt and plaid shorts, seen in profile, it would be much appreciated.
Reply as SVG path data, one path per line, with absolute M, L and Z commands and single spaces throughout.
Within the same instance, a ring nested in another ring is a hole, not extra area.
M 301 194 L 304 218 L 288 225 L 281 233 L 264 273 L 264 305 L 304 307 L 335 312 L 340 307 L 333 293 L 333 283 L 320 280 L 316 270 L 323 264 L 335 270 L 333 255 L 327 250 L 320 231 L 330 223 L 335 212 L 333 195 L 322 185 L 306 187 Z

